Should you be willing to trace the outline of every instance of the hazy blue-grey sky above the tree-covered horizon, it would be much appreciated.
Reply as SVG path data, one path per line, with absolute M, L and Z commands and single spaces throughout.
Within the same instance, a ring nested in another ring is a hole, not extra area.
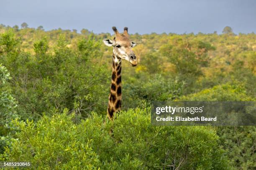
M 0 0 L 0 23 L 95 33 L 256 32 L 256 0 Z

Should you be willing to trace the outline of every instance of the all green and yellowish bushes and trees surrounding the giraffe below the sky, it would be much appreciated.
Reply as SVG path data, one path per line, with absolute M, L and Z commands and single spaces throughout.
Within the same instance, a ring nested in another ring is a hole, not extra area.
M 122 110 L 131 110 L 113 123 L 105 117 L 112 49 L 102 45 L 113 35 L 1 25 L 0 160 L 41 169 L 256 168 L 255 127 L 149 121 L 154 100 L 255 101 L 256 35 L 224 30 L 130 35 L 138 66 L 122 62 Z

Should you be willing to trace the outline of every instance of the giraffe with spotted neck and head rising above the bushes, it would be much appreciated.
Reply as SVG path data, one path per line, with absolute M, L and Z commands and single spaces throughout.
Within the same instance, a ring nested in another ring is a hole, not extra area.
M 113 40 L 103 39 L 105 45 L 113 46 L 113 61 L 112 61 L 112 80 L 110 87 L 110 95 L 108 97 L 108 118 L 113 120 L 115 112 L 121 110 L 122 101 L 122 80 L 121 80 L 121 59 L 127 60 L 134 67 L 137 65 L 136 55 L 132 48 L 136 46 L 136 42 L 132 42 L 128 36 L 128 28 L 124 28 L 121 34 L 115 27 L 112 27 L 115 32 Z

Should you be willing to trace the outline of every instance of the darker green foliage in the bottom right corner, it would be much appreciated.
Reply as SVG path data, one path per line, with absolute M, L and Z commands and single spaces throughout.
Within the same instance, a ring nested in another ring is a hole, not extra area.
M 220 127 L 217 132 L 230 164 L 241 170 L 255 170 L 256 127 Z

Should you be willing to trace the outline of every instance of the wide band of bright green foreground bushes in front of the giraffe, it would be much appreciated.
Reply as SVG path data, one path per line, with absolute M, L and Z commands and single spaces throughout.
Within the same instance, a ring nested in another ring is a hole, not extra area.
M 26 160 L 36 169 L 228 169 L 210 127 L 153 126 L 150 108 L 121 112 L 114 122 L 92 113 L 79 124 L 67 112 L 16 120 L 18 140 L 1 160 Z

